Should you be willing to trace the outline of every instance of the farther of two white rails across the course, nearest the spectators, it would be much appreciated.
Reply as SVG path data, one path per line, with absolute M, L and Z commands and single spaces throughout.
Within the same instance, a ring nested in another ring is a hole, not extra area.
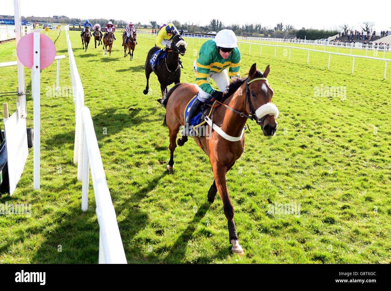
M 143 32 L 143 31 L 138 31 L 138 35 L 140 35 L 143 38 L 153 38 L 153 36 L 156 37 L 156 34 L 152 34 L 151 32 Z M 184 33 L 183 34 L 184 38 L 198 38 L 199 40 L 201 39 L 213 39 L 215 36 L 213 35 L 204 35 L 204 34 L 194 34 L 194 33 Z M 283 38 L 255 38 L 255 37 L 244 37 L 244 36 L 237 36 L 238 40 L 246 40 L 246 41 L 269 41 L 271 42 L 277 42 L 278 43 L 292 43 L 294 44 L 301 44 L 301 45 L 313 45 L 313 49 L 315 49 L 315 46 L 321 46 L 326 49 L 326 47 L 336 47 L 337 50 L 338 48 L 353 48 L 353 49 L 358 49 L 358 50 L 366 50 L 373 51 L 381 51 L 381 52 L 387 52 L 391 51 L 391 44 L 386 46 L 386 45 L 369 45 L 369 44 L 364 44 L 364 43 L 344 43 L 344 42 L 334 42 L 334 41 L 318 41 L 318 40 L 291 40 L 291 39 L 286 39 L 284 40 Z M 375 41 L 376 42 L 376 41 Z M 194 44 L 194 40 L 193 40 Z M 352 53 L 352 51 L 351 51 Z M 383 56 L 384 57 L 384 56 Z

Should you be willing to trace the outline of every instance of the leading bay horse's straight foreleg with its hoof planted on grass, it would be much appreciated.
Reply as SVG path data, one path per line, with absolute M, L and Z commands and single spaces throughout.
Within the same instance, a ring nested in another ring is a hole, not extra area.
M 238 235 L 236 233 L 236 226 L 235 226 L 235 222 L 233 221 L 233 216 L 234 216 L 233 205 L 231 202 L 230 195 L 228 194 L 226 178 L 225 178 L 228 168 L 225 165 L 221 165 L 217 161 L 214 161 L 212 163 L 212 169 L 215 178 L 215 184 L 222 200 L 224 215 L 228 220 L 228 232 L 230 236 L 230 243 L 232 244 L 231 251 L 242 255 L 243 248 L 239 244 Z

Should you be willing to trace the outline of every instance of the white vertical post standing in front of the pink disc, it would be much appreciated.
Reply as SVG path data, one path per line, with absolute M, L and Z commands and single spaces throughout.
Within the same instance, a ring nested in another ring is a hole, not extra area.
M 34 190 L 40 189 L 41 160 L 41 64 L 39 48 L 39 32 L 34 32 L 33 65 L 31 68 L 31 90 L 34 98 Z

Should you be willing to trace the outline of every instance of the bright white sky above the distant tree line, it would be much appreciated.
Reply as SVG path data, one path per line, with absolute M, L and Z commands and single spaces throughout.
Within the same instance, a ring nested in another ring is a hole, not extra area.
M 167 3 L 167 4 L 165 4 Z M 277 23 L 293 25 L 294 28 L 335 29 L 347 24 L 361 29 L 362 22 L 374 22 L 375 30 L 391 31 L 391 4 L 385 0 L 368 3 L 328 0 L 323 3 L 307 0 L 296 1 L 238 1 L 210 0 L 172 2 L 156 1 L 46 1 L 20 0 L 22 16 L 65 15 L 70 18 L 107 18 L 158 24 L 168 20 L 181 23 L 208 25 L 212 19 L 219 19 L 224 25 L 237 23 L 261 23 L 262 26 L 275 27 Z M 169 5 L 168 5 L 169 4 Z M 174 5 L 173 5 L 174 4 Z M 2 0 L 0 15 L 14 15 L 14 1 Z

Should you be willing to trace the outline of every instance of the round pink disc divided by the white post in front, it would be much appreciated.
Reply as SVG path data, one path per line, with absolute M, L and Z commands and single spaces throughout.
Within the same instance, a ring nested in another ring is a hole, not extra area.
M 54 57 L 56 57 L 56 47 L 54 46 L 53 41 L 46 35 L 40 33 L 39 34 L 39 51 L 40 51 L 40 69 L 43 70 L 50 66 Z M 21 63 L 27 68 L 32 68 L 33 66 L 33 56 L 34 53 L 34 33 L 29 33 L 23 36 L 18 45 L 16 46 L 16 55 Z

